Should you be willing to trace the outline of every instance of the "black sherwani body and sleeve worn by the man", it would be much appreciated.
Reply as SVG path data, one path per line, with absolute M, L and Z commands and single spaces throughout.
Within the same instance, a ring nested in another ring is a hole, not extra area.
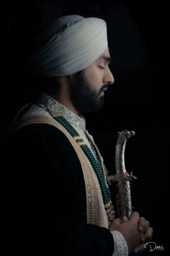
M 109 230 L 86 223 L 79 158 L 50 124 L 15 132 L 3 152 L 6 242 L 17 255 L 109 256 Z M 53 252 L 53 253 L 52 253 Z

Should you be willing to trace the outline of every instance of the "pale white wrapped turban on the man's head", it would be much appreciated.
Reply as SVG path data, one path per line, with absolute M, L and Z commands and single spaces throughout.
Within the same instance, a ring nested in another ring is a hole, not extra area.
M 55 33 L 32 56 L 35 74 L 60 77 L 96 61 L 107 49 L 107 25 L 102 19 L 67 15 L 55 21 Z

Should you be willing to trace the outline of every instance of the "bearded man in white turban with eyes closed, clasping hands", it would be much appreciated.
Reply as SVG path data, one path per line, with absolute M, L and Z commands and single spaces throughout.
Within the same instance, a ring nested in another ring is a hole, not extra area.
M 6 147 L 12 246 L 24 255 L 142 252 L 153 229 L 137 212 L 115 218 L 107 170 L 82 116 L 102 108 L 114 83 L 106 22 L 61 17 L 35 46 L 30 64 L 45 82 L 19 112 Z

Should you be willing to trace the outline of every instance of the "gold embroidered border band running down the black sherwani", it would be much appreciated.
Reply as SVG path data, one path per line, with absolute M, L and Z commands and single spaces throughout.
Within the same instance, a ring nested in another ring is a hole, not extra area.
M 50 115 L 45 116 L 42 114 L 37 114 L 36 116 L 29 116 L 28 118 L 27 116 L 25 118 L 23 117 L 22 122 L 16 124 L 15 129 L 19 129 L 29 124 L 51 124 L 60 129 L 61 132 L 66 135 L 76 151 L 84 174 L 84 182 L 86 186 L 87 223 L 95 224 L 97 226 L 104 226 L 104 216 L 102 210 L 103 200 L 99 182 L 91 163 L 89 162 L 89 159 L 86 158 L 86 155 L 84 154 L 83 150 L 81 150 L 76 140 L 61 124 L 58 123 L 58 121 L 53 119 Z

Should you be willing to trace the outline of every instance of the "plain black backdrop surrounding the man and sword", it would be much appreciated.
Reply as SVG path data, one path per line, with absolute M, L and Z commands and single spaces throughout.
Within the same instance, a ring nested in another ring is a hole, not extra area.
M 110 174 L 115 173 L 117 132 L 133 129 L 126 145 L 127 171 L 135 210 L 154 229 L 153 242 L 164 247 L 146 255 L 169 255 L 169 93 L 168 14 L 164 1 L 24 1 L 1 5 L 1 145 L 15 114 L 30 94 L 27 54 L 34 36 L 61 14 L 107 21 L 110 69 L 115 84 L 104 108 L 86 114 L 86 126 Z M 167 63 L 167 64 L 166 64 Z M 36 86 L 36 85 L 35 85 Z

